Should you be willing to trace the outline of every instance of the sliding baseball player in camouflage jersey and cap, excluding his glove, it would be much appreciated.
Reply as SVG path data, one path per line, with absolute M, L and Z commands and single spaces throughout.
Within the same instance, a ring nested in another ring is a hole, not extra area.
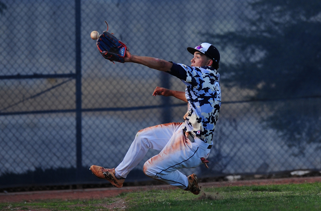
M 160 152 L 144 163 L 143 172 L 147 176 L 194 194 L 200 193 L 197 176 L 186 176 L 179 170 L 208 162 L 206 159 L 213 144 L 213 132 L 221 107 L 220 74 L 217 71 L 220 54 L 209 43 L 187 50 L 194 55 L 191 66 L 136 56 L 126 51 L 125 63 L 137 63 L 181 79 L 186 85 L 185 92 L 156 87 L 152 95 L 174 96 L 188 103 L 188 111 L 182 123 L 161 124 L 138 131 L 117 167 L 108 169 L 92 165 L 90 170 L 98 178 L 122 187 L 127 174 L 151 148 Z

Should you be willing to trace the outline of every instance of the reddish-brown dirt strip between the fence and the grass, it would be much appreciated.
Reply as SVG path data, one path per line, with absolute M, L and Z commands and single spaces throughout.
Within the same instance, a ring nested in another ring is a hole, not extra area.
M 321 176 L 312 177 L 290 177 L 277 179 L 252 179 L 239 181 L 217 181 L 201 182 L 200 186 L 204 187 L 221 187 L 221 186 L 242 186 L 242 185 L 265 185 L 265 184 L 293 184 L 293 183 L 312 183 L 321 182 Z M 68 189 L 68 190 L 46 190 L 46 191 L 29 191 L 29 192 L 4 192 L 0 193 L 0 202 L 24 202 L 45 199 L 102 199 L 114 197 L 123 192 L 134 192 L 149 189 L 174 189 L 170 185 L 146 185 L 146 186 L 126 186 L 122 188 L 85 188 L 85 189 Z M 202 193 L 202 191 L 201 191 Z

